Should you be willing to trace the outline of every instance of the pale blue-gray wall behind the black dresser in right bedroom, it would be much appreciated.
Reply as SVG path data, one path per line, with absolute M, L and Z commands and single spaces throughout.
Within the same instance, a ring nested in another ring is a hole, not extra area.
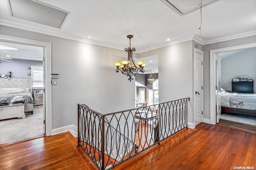
M 224 90 L 232 90 L 231 81 L 235 76 L 247 76 L 256 80 L 256 48 L 247 49 L 221 61 L 221 87 Z

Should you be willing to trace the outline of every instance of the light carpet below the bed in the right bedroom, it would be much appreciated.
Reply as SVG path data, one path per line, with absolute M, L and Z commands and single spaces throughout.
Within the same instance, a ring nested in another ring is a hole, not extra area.
M 256 126 L 256 117 L 253 116 L 225 113 L 221 115 L 220 119 Z

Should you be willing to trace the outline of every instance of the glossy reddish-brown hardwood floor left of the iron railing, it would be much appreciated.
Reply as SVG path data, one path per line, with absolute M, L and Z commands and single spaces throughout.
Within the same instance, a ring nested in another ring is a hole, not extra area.
M 76 145 L 76 138 L 67 132 L 1 147 L 0 169 L 96 170 L 90 158 Z

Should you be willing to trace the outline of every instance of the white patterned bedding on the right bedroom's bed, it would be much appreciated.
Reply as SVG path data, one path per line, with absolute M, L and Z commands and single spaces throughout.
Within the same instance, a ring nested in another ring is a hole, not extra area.
M 256 110 L 256 94 L 222 93 L 221 106 Z

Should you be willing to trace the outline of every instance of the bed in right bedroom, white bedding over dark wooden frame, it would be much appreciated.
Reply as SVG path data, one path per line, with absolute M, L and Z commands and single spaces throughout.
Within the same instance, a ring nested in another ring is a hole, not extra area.
M 256 117 L 256 94 L 229 93 L 222 89 L 221 111 Z

